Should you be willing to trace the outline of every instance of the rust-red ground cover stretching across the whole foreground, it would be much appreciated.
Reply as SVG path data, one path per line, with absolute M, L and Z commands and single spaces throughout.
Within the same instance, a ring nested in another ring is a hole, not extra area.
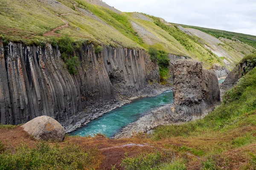
M 244 127 L 241 131 L 252 131 L 256 130 L 255 126 Z M 141 153 L 153 153 L 155 150 L 159 150 L 163 153 L 173 153 L 174 158 L 184 158 L 188 160 L 186 164 L 187 169 L 200 170 L 202 167 L 201 161 L 204 161 L 204 157 L 199 157 L 194 155 L 190 151 L 179 152 L 176 149 L 182 146 L 193 147 L 200 149 L 204 147 L 206 150 L 210 149 L 211 146 L 218 145 L 222 142 L 228 142 L 233 138 L 236 138 L 241 132 L 238 130 L 236 133 L 231 131 L 231 134 L 225 134 L 224 136 L 215 136 L 217 134 L 212 134 L 212 136 L 205 137 L 195 137 L 195 138 L 183 138 L 183 137 L 173 137 L 172 139 L 162 139 L 160 141 L 154 142 L 151 139 L 106 139 L 104 136 L 98 135 L 94 138 L 87 137 L 74 137 L 66 136 L 63 142 L 59 143 L 61 146 L 67 144 L 67 142 L 72 144 L 79 144 L 82 149 L 92 149 L 97 148 L 103 158 L 101 162 L 100 170 L 111 170 L 112 165 L 116 165 L 117 169 L 120 169 L 120 164 L 122 159 L 125 158 L 125 153 L 130 157 L 137 156 Z M 36 141 L 29 136 L 28 133 L 23 131 L 20 126 L 15 127 L 15 129 L 5 129 L 0 128 L 0 141 L 4 144 L 7 149 L 14 150 L 15 147 L 19 146 L 21 143 L 26 143 L 29 147 L 35 147 Z M 55 143 L 52 143 L 55 144 Z M 209 148 L 208 148 L 209 147 Z M 254 151 L 256 149 L 256 144 L 249 144 L 244 147 L 230 148 L 221 155 L 216 156 L 217 163 L 223 168 L 222 169 L 232 169 L 236 170 L 244 165 L 248 164 L 250 159 L 248 158 L 248 151 Z M 228 160 L 228 163 L 226 162 Z

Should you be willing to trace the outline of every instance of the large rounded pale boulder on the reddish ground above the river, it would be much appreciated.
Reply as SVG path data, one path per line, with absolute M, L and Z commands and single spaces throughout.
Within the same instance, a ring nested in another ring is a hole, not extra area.
M 37 140 L 61 142 L 65 137 L 65 130 L 61 124 L 49 116 L 36 117 L 22 127 Z

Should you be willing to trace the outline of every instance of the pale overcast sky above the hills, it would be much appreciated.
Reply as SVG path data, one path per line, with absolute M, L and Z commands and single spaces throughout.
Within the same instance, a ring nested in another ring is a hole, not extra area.
M 143 12 L 171 23 L 256 35 L 256 0 L 103 0 L 123 12 Z

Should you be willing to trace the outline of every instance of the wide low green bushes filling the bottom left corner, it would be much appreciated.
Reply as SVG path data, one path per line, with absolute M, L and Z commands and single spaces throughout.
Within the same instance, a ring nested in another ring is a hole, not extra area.
M 59 147 L 40 143 L 36 148 L 21 144 L 15 153 L 6 150 L 0 154 L 1 170 L 84 170 L 93 169 L 98 150 L 84 151 L 78 145 Z

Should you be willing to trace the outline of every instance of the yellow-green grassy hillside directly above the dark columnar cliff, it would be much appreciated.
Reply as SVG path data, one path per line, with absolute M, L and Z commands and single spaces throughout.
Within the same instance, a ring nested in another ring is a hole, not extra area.
M 66 21 L 68 27 L 51 35 L 61 37 L 68 34 L 75 40 L 84 38 L 105 45 L 146 50 L 153 46 L 171 54 L 198 59 L 204 62 L 206 68 L 210 68 L 213 63 L 224 65 L 221 59 L 207 51 L 198 37 L 188 37 L 179 29 L 162 21 L 160 22 L 163 25 L 157 26 L 155 17 L 153 17 L 154 22 L 140 20 L 134 18 L 133 13 L 118 14 L 86 0 L 2 1 L 0 20 L 3 22 L 0 23 L 0 34 L 3 34 L 7 40 L 38 44 L 50 42 L 49 37 L 43 35 L 53 28 L 64 25 Z M 149 45 L 145 37 L 139 36 L 131 22 L 156 37 L 152 40 L 153 45 Z M 169 28 L 163 27 L 165 24 L 170 25 Z

